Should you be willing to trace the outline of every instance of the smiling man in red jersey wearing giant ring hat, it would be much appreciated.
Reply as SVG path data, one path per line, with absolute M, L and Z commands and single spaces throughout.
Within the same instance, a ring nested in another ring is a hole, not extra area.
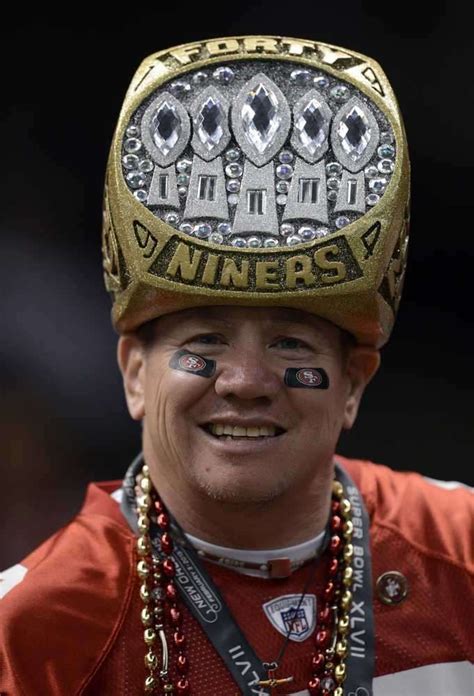
M 365 56 L 142 63 L 103 253 L 143 454 L 3 575 L 3 693 L 472 693 L 472 494 L 335 455 L 393 326 L 408 178 Z

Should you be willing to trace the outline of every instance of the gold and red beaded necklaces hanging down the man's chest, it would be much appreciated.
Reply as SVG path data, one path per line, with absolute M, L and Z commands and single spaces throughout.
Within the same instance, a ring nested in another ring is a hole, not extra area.
M 136 478 L 137 507 L 137 574 L 140 579 L 140 597 L 143 602 L 141 621 L 146 645 L 144 682 L 145 694 L 180 694 L 188 696 L 191 685 L 188 678 L 189 660 L 186 655 L 186 637 L 182 629 L 182 610 L 175 583 L 175 564 L 171 558 L 173 539 L 170 517 L 153 488 L 146 464 Z M 150 523 L 156 522 L 160 535 L 161 556 L 153 553 Z M 308 672 L 306 688 L 311 696 L 343 696 L 348 655 L 347 634 L 349 611 L 352 603 L 352 532 L 351 503 L 339 481 L 333 481 L 330 538 L 327 553 L 330 557 L 329 578 L 326 582 L 322 605 L 317 614 L 314 653 Z M 291 631 L 291 626 L 290 626 Z M 170 653 L 175 664 L 177 679 L 170 674 Z M 274 689 L 291 678 L 277 678 L 277 663 L 265 663 L 268 678 L 261 687 Z

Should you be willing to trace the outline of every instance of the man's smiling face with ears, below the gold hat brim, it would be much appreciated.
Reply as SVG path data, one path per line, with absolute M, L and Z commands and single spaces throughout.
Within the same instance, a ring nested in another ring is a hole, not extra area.
M 124 341 L 127 399 L 132 416 L 143 419 L 152 475 L 229 503 L 303 491 L 318 468 L 328 472 L 363 390 L 354 396 L 340 330 L 298 310 L 185 310 L 161 317 L 146 349 L 135 337 Z M 171 368 L 180 349 L 215 361 L 215 373 Z M 329 387 L 285 385 L 291 367 L 323 368 Z

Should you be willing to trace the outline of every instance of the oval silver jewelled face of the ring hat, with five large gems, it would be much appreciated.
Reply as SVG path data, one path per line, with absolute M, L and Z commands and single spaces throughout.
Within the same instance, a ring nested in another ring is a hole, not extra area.
M 352 84 L 276 61 L 163 85 L 126 128 L 133 195 L 180 231 L 235 247 L 337 232 L 383 196 L 395 167 L 386 117 Z

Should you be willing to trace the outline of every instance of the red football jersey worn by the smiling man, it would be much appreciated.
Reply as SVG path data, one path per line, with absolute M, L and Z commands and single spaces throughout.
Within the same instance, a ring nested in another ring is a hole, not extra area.
M 472 696 L 472 492 L 370 462 L 339 460 L 370 517 L 374 696 Z M 111 495 L 119 487 L 120 482 L 91 484 L 73 521 L 0 575 L 1 696 L 143 693 L 135 537 Z M 284 638 L 264 607 L 301 593 L 308 568 L 266 579 L 205 566 L 255 653 L 262 661 L 274 660 Z M 406 598 L 396 605 L 384 604 L 377 594 L 377 579 L 388 571 L 398 571 L 408 583 Z M 321 562 L 307 590 L 315 601 L 325 579 Z M 192 694 L 237 695 L 237 685 L 184 604 L 183 614 Z M 309 637 L 289 641 L 279 674 L 294 681 L 282 693 L 308 693 L 312 652 Z

